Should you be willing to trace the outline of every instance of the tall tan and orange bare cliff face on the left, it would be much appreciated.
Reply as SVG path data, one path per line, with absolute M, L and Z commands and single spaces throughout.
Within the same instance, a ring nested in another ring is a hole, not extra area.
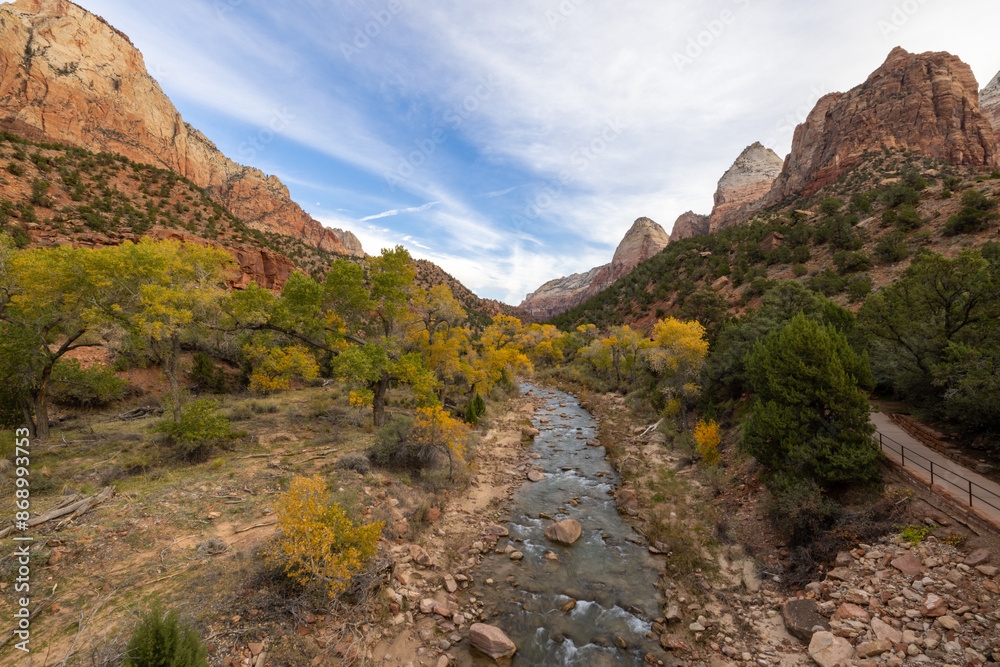
M 311 218 L 277 177 L 236 164 L 185 123 L 102 18 L 65 0 L 17 0 L 0 5 L 0 31 L 0 129 L 170 169 L 254 229 L 363 256 L 353 234 Z

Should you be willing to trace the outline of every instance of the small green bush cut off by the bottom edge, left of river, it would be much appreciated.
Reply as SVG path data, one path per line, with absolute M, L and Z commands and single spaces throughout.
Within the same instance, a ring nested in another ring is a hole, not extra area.
M 125 667 L 208 667 L 208 654 L 198 631 L 159 607 L 143 617 L 125 650 Z

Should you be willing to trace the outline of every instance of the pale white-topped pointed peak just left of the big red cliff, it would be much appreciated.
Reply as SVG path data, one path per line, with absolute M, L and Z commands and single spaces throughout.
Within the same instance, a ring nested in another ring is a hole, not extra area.
M 784 162 L 759 141 L 747 146 L 719 179 L 709 229 L 715 231 L 745 221 L 774 185 Z

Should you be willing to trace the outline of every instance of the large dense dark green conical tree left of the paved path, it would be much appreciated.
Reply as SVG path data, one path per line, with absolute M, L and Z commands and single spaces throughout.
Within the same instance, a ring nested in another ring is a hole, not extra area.
M 742 443 L 769 480 L 829 487 L 877 476 L 864 391 L 874 382 L 844 334 L 800 313 L 758 342 L 746 365 L 756 399 Z

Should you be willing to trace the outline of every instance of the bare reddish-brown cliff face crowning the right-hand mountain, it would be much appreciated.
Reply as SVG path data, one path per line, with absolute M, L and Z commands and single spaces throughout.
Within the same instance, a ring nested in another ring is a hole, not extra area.
M 791 153 L 763 203 L 811 194 L 882 148 L 996 166 L 996 137 L 980 113 L 979 85 L 969 66 L 949 53 L 896 47 L 863 84 L 816 103 L 795 128 Z

